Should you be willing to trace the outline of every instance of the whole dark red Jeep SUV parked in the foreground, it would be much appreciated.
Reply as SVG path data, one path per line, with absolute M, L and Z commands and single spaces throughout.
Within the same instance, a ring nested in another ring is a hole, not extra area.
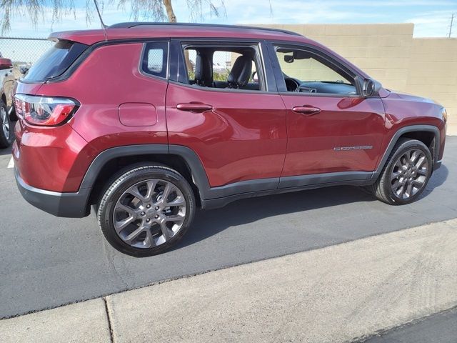
M 51 38 L 16 89 L 19 190 L 59 217 L 94 205 L 126 254 L 164 252 L 197 208 L 241 198 L 348 184 L 409 204 L 441 165 L 443 106 L 292 32 L 124 23 Z M 218 51 L 236 57 L 222 81 Z

